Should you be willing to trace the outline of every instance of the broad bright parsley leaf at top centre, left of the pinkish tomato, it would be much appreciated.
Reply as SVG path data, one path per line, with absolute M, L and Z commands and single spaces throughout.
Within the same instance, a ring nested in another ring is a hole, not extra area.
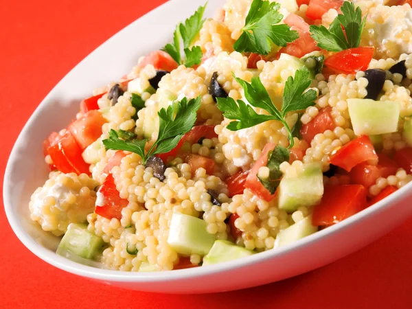
M 283 19 L 276 2 L 253 0 L 247 14 L 242 34 L 233 45 L 237 52 L 253 52 L 267 55 L 271 52 L 271 42 L 285 47 L 299 38 L 288 25 L 278 25 Z M 271 42 L 270 42 L 271 41 Z

